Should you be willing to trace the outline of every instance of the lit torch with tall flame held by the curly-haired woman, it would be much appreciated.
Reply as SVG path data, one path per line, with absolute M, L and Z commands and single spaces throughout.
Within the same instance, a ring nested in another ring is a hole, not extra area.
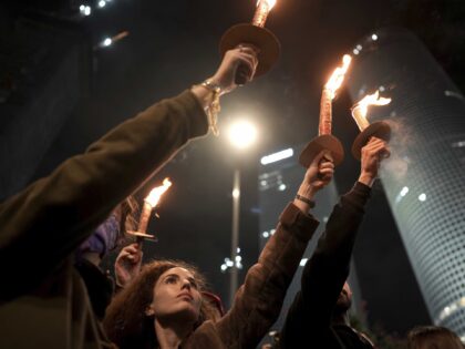
M 352 58 L 345 54 L 342 65 L 338 66 L 323 88 L 320 103 L 320 123 L 318 126 L 318 137 L 310 141 L 299 156 L 299 163 L 308 168 L 313 158 L 321 152 L 328 151 L 328 161 L 333 161 L 338 165 L 344 158 L 344 148 L 341 142 L 331 134 L 332 127 L 332 100 L 344 81 L 344 75 L 350 66 Z M 329 158 L 331 157 L 331 158 Z

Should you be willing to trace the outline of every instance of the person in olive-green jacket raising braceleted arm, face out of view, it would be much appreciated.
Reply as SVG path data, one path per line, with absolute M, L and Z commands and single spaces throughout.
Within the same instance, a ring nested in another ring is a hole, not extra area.
M 215 126 L 218 97 L 236 88 L 241 64 L 251 79 L 254 49 L 228 51 L 203 84 L 152 105 L 0 204 L 0 348 L 113 347 L 75 252 L 179 148 Z

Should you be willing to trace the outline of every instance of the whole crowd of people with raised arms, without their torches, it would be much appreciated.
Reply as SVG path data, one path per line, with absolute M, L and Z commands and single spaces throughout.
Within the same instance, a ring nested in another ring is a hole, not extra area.
M 286 291 L 319 222 L 316 194 L 334 173 L 322 151 L 276 233 L 225 311 L 196 267 L 180 260 L 142 265 L 137 243 L 124 247 L 115 283 L 99 267 L 134 225 L 131 195 L 183 146 L 216 127 L 220 95 L 238 70 L 252 80 L 257 51 L 228 51 L 216 73 L 127 120 L 51 175 L 0 204 L 0 348 L 256 348 L 277 320 Z M 351 327 L 349 264 L 386 142 L 371 138 L 361 170 L 342 195 L 307 263 L 279 347 L 376 348 Z M 127 243 L 126 243 L 127 244 Z M 28 263 L 19 263 L 18 259 Z M 115 285 L 115 287 L 114 287 Z M 451 330 L 418 327 L 409 348 L 464 348 Z

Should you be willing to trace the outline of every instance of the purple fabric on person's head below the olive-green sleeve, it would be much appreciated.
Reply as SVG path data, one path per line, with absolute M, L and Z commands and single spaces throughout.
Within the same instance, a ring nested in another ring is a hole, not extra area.
M 83 253 L 97 253 L 103 257 L 112 249 L 116 248 L 120 236 L 120 223 L 114 215 L 111 215 L 104 223 L 102 223 L 94 234 L 92 234 L 78 248 L 78 256 Z

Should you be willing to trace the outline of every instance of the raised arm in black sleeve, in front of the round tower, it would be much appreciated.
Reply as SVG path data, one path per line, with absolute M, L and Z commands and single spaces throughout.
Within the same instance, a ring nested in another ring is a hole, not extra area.
M 334 206 L 326 232 L 303 268 L 301 291 L 289 309 L 281 332 L 282 348 L 294 348 L 303 333 L 330 326 L 332 311 L 349 276 L 349 265 L 370 188 L 378 176 L 385 142 L 373 138 L 362 150 L 359 182 Z

